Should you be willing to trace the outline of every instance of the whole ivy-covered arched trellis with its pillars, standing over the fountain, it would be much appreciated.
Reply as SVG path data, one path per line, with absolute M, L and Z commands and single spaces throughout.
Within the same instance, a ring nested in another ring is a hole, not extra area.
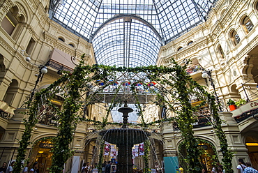
M 20 149 L 17 154 L 17 164 L 15 172 L 20 172 L 21 161 L 25 157 L 25 150 L 29 144 L 32 127 L 36 125 L 40 116 L 45 114 L 46 107 L 51 107 L 51 112 L 59 121 L 58 134 L 54 139 L 54 148 L 52 156 L 52 172 L 61 172 L 66 160 L 73 155 L 70 149 L 70 142 L 73 140 L 73 133 L 77 123 L 82 120 L 82 112 L 84 107 L 101 103 L 104 96 L 109 96 L 109 107 L 103 121 L 93 121 L 98 123 L 104 129 L 107 124 L 107 118 L 112 108 L 124 100 L 131 101 L 137 105 L 141 123 L 139 126 L 148 128 L 155 123 L 162 121 L 176 121 L 180 130 L 183 144 L 187 151 L 185 161 L 188 163 L 186 170 L 188 172 L 199 172 L 201 165 L 197 156 L 199 156 L 198 142 L 193 136 L 192 126 L 196 120 L 198 108 L 206 106 L 211 112 L 210 123 L 215 129 L 215 134 L 220 139 L 220 148 L 222 149 L 225 170 L 232 170 L 232 151 L 228 149 L 225 133 L 221 128 L 221 119 L 218 115 L 218 107 L 215 105 L 215 98 L 207 93 L 202 86 L 197 84 L 187 75 L 185 66 L 179 66 L 172 59 L 174 66 L 171 68 L 165 66 L 148 66 L 137 68 L 125 68 L 114 66 L 93 65 L 84 66 L 84 55 L 79 65 L 76 66 L 73 73 L 65 73 L 63 77 L 35 94 L 32 100 L 26 102 L 28 111 L 26 112 L 28 119 L 24 119 L 25 131 L 20 140 Z M 155 82 L 155 83 L 154 83 Z M 139 85 L 144 92 L 139 90 Z M 110 86 L 114 87 L 114 91 L 105 92 Z M 147 91 L 146 91 L 147 90 Z M 58 110 L 50 101 L 56 93 L 59 93 L 64 99 L 63 109 Z M 202 100 L 202 103 L 193 106 L 190 103 L 192 96 Z M 153 103 L 159 106 L 165 106 L 169 111 L 177 114 L 174 118 L 158 120 L 146 123 L 144 114 L 142 114 L 142 97 L 151 97 Z

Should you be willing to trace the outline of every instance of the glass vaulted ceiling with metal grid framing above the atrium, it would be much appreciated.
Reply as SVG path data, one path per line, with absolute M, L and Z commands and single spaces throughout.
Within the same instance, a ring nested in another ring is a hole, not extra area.
M 161 45 L 206 20 L 216 0 L 51 0 L 50 18 L 93 43 L 108 66 L 155 64 Z

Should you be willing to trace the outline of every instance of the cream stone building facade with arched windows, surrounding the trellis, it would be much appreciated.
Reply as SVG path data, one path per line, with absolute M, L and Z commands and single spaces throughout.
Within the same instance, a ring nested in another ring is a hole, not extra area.
M 34 87 L 40 90 L 49 86 L 60 77 L 59 70 L 73 70 L 75 64 L 71 57 L 77 61 L 85 53 L 86 64 L 96 63 L 92 44 L 50 20 L 49 8 L 50 1 L 47 0 L 0 1 L 0 164 L 15 159 L 17 155 L 19 144 L 16 139 L 21 139 L 24 131 L 22 119 L 25 117 L 21 112 L 25 110 L 24 100 L 28 99 Z M 222 103 L 222 127 L 230 148 L 235 151 L 232 160 L 235 171 L 239 158 L 251 162 L 258 169 L 257 33 L 257 0 L 219 0 L 206 21 L 163 45 L 156 63 L 158 66 L 171 66 L 172 58 L 179 64 L 190 59 L 192 64 L 188 73 L 211 93 L 214 92 L 213 87 L 202 78 L 202 68 L 212 70 L 215 92 Z M 27 57 L 31 61 L 26 61 Z M 39 79 L 42 66 L 47 66 L 48 72 Z M 229 98 L 244 99 L 248 103 L 229 111 Z M 52 99 L 52 103 L 59 107 L 62 101 L 63 98 L 58 96 Z M 193 104 L 197 101 L 192 99 Z M 153 121 L 163 118 L 162 110 L 158 107 L 152 109 L 146 117 L 150 116 Z M 84 116 L 101 120 L 104 113 L 98 105 L 92 105 Z M 166 115 L 176 116 L 173 112 Z M 206 141 L 206 145 L 213 145 L 221 162 L 220 142 L 213 128 L 201 126 L 201 119 L 197 125 L 195 136 Z M 33 130 L 32 143 L 28 147 L 26 157 L 31 161 L 38 160 L 43 165 L 42 172 L 48 172 L 51 165 L 50 139 L 56 135 L 55 126 L 56 121 L 51 115 L 42 117 Z M 83 162 L 96 159 L 97 137 L 92 135 L 92 131 L 88 123 L 79 123 L 71 144 L 75 155 L 68 160 L 66 170 L 78 172 Z M 162 123 L 153 141 L 159 160 L 179 156 L 180 131 L 171 123 Z M 204 162 L 207 157 L 204 156 Z M 142 164 L 140 158 L 137 162 Z M 155 160 L 152 160 L 151 167 L 154 164 Z M 211 169 L 211 163 L 206 164 L 210 164 L 208 169 Z

